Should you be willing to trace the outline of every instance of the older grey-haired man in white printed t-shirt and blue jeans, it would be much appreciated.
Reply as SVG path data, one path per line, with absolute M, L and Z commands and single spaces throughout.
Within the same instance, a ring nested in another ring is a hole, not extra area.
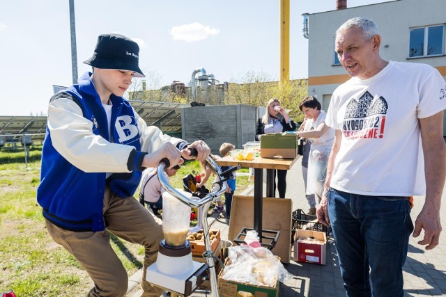
M 317 216 L 332 225 L 347 296 L 403 296 L 413 195 L 426 194 L 418 243 L 435 248 L 441 232 L 446 83 L 429 65 L 383 60 L 380 43 L 364 17 L 336 32 L 351 79 L 334 91 L 325 119 L 336 136 Z

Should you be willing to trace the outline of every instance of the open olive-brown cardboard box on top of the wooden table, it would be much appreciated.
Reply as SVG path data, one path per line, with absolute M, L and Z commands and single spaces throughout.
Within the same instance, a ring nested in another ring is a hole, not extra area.
M 271 133 L 260 138 L 260 156 L 262 158 L 294 159 L 298 153 L 296 134 Z

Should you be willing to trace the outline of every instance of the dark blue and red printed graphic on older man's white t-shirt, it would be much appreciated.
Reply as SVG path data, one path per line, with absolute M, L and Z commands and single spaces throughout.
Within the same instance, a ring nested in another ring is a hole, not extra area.
M 359 99 L 352 98 L 346 107 L 343 133 L 346 138 L 383 138 L 387 101 L 365 92 Z

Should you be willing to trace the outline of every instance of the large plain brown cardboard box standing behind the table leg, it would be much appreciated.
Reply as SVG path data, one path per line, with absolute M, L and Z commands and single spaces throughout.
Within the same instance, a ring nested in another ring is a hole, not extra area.
M 277 244 L 271 252 L 273 255 L 279 256 L 282 263 L 289 263 L 293 201 L 291 199 L 263 198 L 262 203 L 262 229 L 280 231 Z M 254 227 L 254 198 L 233 195 L 228 239 L 234 241 L 243 227 Z

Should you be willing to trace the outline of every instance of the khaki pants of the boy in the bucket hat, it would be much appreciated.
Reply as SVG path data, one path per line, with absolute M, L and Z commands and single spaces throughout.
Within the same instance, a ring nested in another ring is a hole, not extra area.
M 163 239 L 162 221 L 145 209 L 133 197 L 119 198 L 105 189 L 103 214 L 106 230 L 131 243 L 146 248 L 141 287 L 142 296 L 160 296 L 162 290 L 146 282 L 146 268 L 155 262 Z M 66 248 L 89 273 L 95 283 L 87 296 L 125 296 L 128 287 L 127 271 L 110 246 L 109 233 L 72 232 L 46 220 L 52 239 Z

